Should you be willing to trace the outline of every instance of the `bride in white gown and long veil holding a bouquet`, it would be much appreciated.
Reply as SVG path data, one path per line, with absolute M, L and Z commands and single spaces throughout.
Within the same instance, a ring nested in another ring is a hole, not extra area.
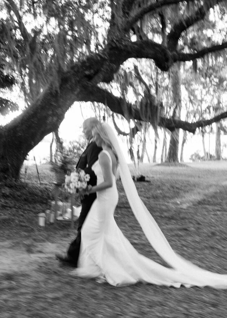
M 73 277 L 96 278 L 113 286 L 137 282 L 185 287 L 211 286 L 227 289 L 227 275 L 203 270 L 177 255 L 138 196 L 117 137 L 107 124 L 93 129 L 93 139 L 102 147 L 92 169 L 97 185 L 89 193 L 97 192 L 81 230 L 78 268 Z M 171 266 L 167 268 L 137 252 L 117 226 L 113 214 L 118 202 L 117 167 L 129 204 L 149 243 Z

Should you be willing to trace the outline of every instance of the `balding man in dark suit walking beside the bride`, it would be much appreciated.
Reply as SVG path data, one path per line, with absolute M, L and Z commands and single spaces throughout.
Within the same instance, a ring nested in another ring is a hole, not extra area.
M 83 133 L 88 140 L 88 145 L 85 151 L 82 153 L 76 166 L 76 168 L 83 169 L 90 175 L 88 184 L 91 185 L 96 185 L 97 183 L 97 177 L 91 168 L 93 163 L 98 160 L 99 153 L 102 150 L 102 148 L 98 147 L 97 144 L 92 140 L 92 129 L 96 126 L 97 123 L 99 123 L 99 121 L 95 117 L 88 118 L 83 122 Z M 81 200 L 82 208 L 78 219 L 77 237 L 74 241 L 72 241 L 65 255 L 56 254 L 56 258 L 59 259 L 61 262 L 66 262 L 71 266 L 77 267 L 81 242 L 81 227 L 95 199 L 96 193 L 92 193 L 89 196 L 85 195 L 84 199 Z

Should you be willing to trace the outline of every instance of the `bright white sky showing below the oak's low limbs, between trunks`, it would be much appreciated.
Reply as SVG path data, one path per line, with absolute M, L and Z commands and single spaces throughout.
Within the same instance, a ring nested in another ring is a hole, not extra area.
M 59 136 L 66 143 L 72 140 L 77 140 L 79 135 L 82 135 L 82 124 L 84 119 L 88 117 L 93 117 L 95 114 L 92 108 L 89 106 L 89 103 L 82 104 L 82 113 L 80 110 L 79 103 L 74 103 L 74 105 L 66 112 L 65 119 L 62 121 L 59 128 Z M 4 125 L 7 122 L 11 121 L 14 117 L 20 114 L 21 111 L 11 113 L 5 118 L 1 118 L 0 116 L 0 124 Z M 111 121 L 109 124 L 113 127 Z M 215 124 L 213 125 L 215 131 Z M 47 135 L 42 142 L 40 142 L 34 149 L 29 153 L 29 159 L 31 160 L 30 164 L 33 164 L 33 156 L 36 157 L 37 163 L 46 162 L 46 159 L 50 156 L 50 142 L 52 140 L 52 134 Z M 160 162 L 161 151 L 162 151 L 162 140 L 163 135 L 162 131 L 159 130 L 159 140 L 158 140 L 158 148 L 157 148 L 157 162 Z M 122 142 L 122 139 L 119 137 L 119 142 L 121 143 L 121 147 L 123 149 L 124 155 L 128 163 L 131 163 L 130 158 L 127 152 L 127 144 Z M 181 142 L 182 142 L 182 130 L 180 130 L 180 145 L 179 145 L 179 157 L 181 150 Z M 227 135 L 221 136 L 222 145 L 227 144 Z M 205 146 L 206 151 L 209 149 L 209 136 L 205 135 Z M 54 148 L 53 148 L 54 149 Z M 150 160 L 152 162 L 153 153 L 154 153 L 154 133 L 151 129 L 151 135 L 147 138 L 147 150 L 150 156 Z M 203 145 L 202 145 L 202 137 L 201 135 L 192 135 L 188 134 L 188 141 L 184 146 L 184 161 L 189 162 L 189 157 L 191 154 L 196 151 L 200 152 L 200 155 L 203 156 Z M 215 135 L 210 136 L 210 153 L 215 154 Z M 227 157 L 227 148 L 223 148 L 223 157 Z M 145 157 L 145 161 L 148 162 Z

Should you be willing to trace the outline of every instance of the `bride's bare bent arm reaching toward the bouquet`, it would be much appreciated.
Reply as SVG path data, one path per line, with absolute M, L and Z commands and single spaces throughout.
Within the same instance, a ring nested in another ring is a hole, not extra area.
M 97 191 L 105 190 L 113 186 L 112 168 L 110 164 L 110 159 L 105 153 L 100 153 L 99 164 L 102 169 L 102 175 L 104 181 L 98 185 L 94 185 L 89 193 L 95 193 Z

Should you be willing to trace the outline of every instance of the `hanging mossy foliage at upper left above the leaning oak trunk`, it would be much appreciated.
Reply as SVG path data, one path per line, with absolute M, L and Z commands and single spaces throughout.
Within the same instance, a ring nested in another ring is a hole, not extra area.
M 96 17 L 104 7 L 97 1 L 23 1 L 18 10 L 16 3 L 5 2 L 9 17 L 0 24 L 1 42 L 7 43 L 4 58 L 10 58 L 28 104 L 50 80 L 57 89 L 59 72 L 102 46 L 105 32 L 102 28 L 100 37 Z

